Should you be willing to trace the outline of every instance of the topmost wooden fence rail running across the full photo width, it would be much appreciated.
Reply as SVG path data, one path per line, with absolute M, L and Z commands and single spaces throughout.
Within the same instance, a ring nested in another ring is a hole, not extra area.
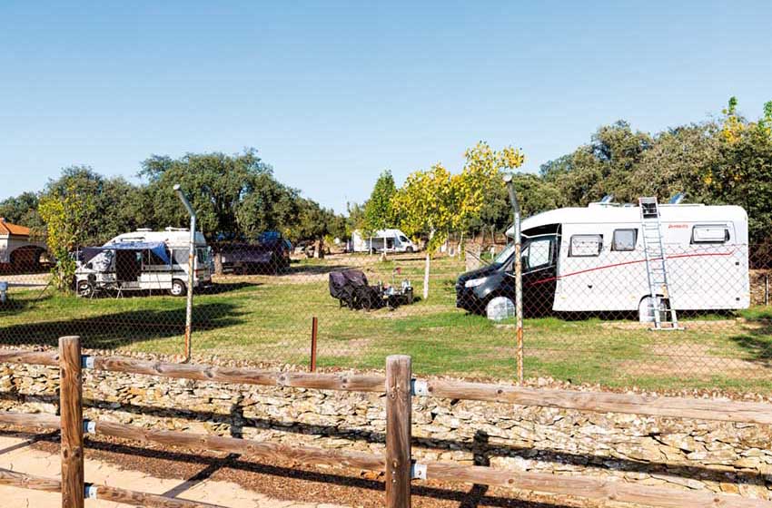
M 96 369 L 129 374 L 322 390 L 385 393 L 386 389 L 385 376 L 277 372 L 252 368 L 153 362 L 125 357 L 97 356 L 92 358 Z M 55 351 L 0 350 L 0 362 L 56 366 L 58 365 L 58 353 Z M 572 390 L 543 390 L 443 379 L 427 380 L 425 386 L 426 390 L 423 395 L 426 396 L 559 407 L 596 413 L 628 413 L 723 422 L 772 424 L 772 405 L 762 403 Z

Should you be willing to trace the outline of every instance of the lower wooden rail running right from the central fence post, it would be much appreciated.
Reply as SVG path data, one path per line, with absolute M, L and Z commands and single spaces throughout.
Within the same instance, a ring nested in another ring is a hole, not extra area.
M 503 471 L 479 465 L 430 462 L 428 480 L 505 486 L 539 493 L 667 508 L 772 508 L 772 502 L 738 495 L 681 491 L 590 476 Z

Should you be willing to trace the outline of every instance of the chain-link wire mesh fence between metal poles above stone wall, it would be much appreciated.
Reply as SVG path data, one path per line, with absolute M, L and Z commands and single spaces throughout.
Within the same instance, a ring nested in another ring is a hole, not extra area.
M 660 316 L 667 327 L 674 307 L 681 329 L 653 331 L 640 242 L 623 233 L 584 237 L 548 234 L 524 246 L 527 377 L 772 386 L 772 249 L 666 246 Z M 79 335 L 92 349 L 182 356 L 187 251 L 134 247 L 79 251 L 70 294 L 51 286 L 39 249 L 0 265 L 0 344 L 52 347 Z M 317 257 L 318 244 L 283 239 L 209 247 L 196 253 L 194 357 L 306 366 L 318 318 L 322 367 L 381 368 L 384 357 L 401 353 L 420 374 L 515 375 L 514 318 L 501 299 L 513 298 L 514 288 L 505 245 L 451 243 L 432 257 L 428 278 L 422 251 L 332 247 Z M 489 318 L 497 314 L 504 317 Z

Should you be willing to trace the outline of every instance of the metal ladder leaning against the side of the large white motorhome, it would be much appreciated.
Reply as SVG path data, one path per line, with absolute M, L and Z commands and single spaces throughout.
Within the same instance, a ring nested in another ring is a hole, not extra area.
M 668 260 L 662 243 L 662 224 L 659 220 L 657 198 L 639 198 L 641 236 L 646 255 L 648 291 L 655 330 L 678 330 L 678 316 L 673 307 L 673 296 L 668 283 Z

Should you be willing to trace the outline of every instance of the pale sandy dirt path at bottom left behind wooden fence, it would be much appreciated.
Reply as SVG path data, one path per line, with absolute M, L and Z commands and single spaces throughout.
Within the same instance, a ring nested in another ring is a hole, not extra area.
M 30 446 L 29 440 L 0 435 L 0 467 L 19 473 L 59 478 L 59 455 Z M 261 493 L 246 490 L 238 484 L 213 481 L 181 481 L 156 478 L 140 471 L 119 468 L 99 460 L 86 460 L 85 477 L 94 484 L 112 485 L 145 493 L 163 493 L 193 501 L 213 503 L 229 508 L 336 508 L 332 504 L 297 503 L 271 499 Z M 58 493 L 44 493 L 0 485 L 4 508 L 47 508 L 61 505 Z M 125 504 L 91 501 L 92 508 L 118 508 Z

